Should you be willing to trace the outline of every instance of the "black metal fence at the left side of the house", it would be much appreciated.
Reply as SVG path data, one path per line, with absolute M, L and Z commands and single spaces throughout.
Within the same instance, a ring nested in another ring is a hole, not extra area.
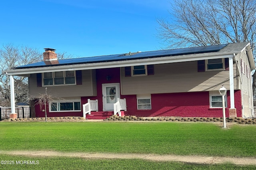
M 0 107 L 0 121 L 10 118 L 10 113 L 12 113 L 11 108 Z M 29 107 L 17 107 L 15 108 L 15 113 L 17 113 L 17 118 L 31 118 Z

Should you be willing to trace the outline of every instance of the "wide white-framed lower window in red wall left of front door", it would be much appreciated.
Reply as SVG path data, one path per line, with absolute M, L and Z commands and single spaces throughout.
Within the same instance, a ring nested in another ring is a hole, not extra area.
M 55 100 L 50 102 L 50 112 L 70 112 L 70 111 L 81 111 L 80 99 L 69 99 L 69 100 Z

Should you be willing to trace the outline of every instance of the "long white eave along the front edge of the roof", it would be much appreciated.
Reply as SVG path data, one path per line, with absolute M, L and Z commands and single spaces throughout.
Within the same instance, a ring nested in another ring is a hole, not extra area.
M 240 52 L 235 52 L 240 53 Z M 88 63 L 88 64 L 72 64 L 64 66 L 49 66 L 49 67 L 38 67 L 38 68 L 23 68 L 23 69 L 11 69 L 3 71 L 8 75 L 23 75 L 23 74 L 34 74 L 41 72 L 56 72 L 56 71 L 68 71 L 68 70 L 91 70 L 99 68 L 115 68 L 115 67 L 125 67 L 125 66 L 136 66 L 136 65 L 148 65 L 148 64 L 164 64 L 164 63 L 174 63 L 174 62 L 187 62 L 196 60 L 207 60 L 214 58 L 228 58 L 232 57 L 230 52 L 228 53 L 202 53 L 202 54 L 190 54 L 182 56 L 167 56 L 158 58 L 145 58 L 136 60 L 124 60 L 118 62 L 99 62 L 99 63 Z M 47 68 L 47 69 L 46 69 Z

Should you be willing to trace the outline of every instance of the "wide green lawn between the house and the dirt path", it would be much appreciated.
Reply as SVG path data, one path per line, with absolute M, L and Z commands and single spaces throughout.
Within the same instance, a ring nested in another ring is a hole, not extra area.
M 212 123 L 0 122 L 0 150 L 256 157 L 255 134 Z

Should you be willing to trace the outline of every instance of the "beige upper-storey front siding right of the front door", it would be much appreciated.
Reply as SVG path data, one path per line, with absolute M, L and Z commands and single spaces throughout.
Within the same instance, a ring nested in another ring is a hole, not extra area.
M 122 94 L 157 94 L 219 90 L 222 84 L 229 89 L 229 71 L 197 71 L 197 61 L 155 64 L 154 75 L 125 77 L 121 69 Z M 234 75 L 236 65 L 234 64 Z M 237 89 L 237 78 L 234 77 Z

